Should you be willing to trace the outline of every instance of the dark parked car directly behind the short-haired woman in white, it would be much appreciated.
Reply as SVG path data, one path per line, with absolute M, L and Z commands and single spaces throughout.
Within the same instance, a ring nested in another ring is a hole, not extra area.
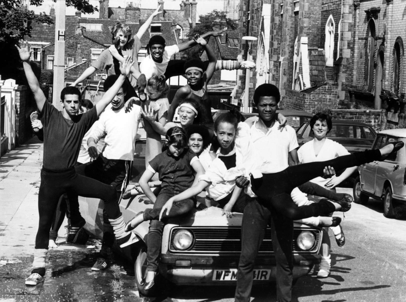
M 371 148 L 376 137 L 376 131 L 371 126 L 349 120 L 333 120 L 332 122 L 333 127 L 331 131 L 327 133 L 327 138 L 337 141 L 337 143 L 343 145 L 350 153 Z M 296 137 L 298 138 L 299 146 L 302 146 L 314 138 L 310 122 L 304 122 L 300 125 L 296 130 Z M 337 175 L 342 173 L 342 171 L 336 172 Z M 352 188 L 357 177 L 358 171 L 355 171 L 350 177 L 341 182 L 339 186 Z

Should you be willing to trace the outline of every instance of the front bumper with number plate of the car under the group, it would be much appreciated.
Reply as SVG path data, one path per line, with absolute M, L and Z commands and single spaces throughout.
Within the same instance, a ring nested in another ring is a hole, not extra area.
M 320 259 L 320 255 L 306 255 L 305 257 L 295 255 L 293 278 L 297 279 L 308 274 L 316 263 L 320 263 Z M 177 285 L 235 285 L 235 278 L 233 278 L 233 280 L 227 280 L 225 275 L 235 276 L 238 260 L 234 261 L 235 259 L 230 258 L 227 260 L 224 259 L 224 261 L 219 260 L 220 259 L 213 260 L 212 258 L 208 257 L 197 257 L 189 260 L 176 260 L 175 258 L 171 257 L 162 257 L 160 271 L 168 281 L 171 281 Z M 254 270 L 268 270 L 270 271 L 270 275 L 268 278 L 266 278 L 266 280 L 261 280 L 260 276 L 258 276 L 258 278 L 254 277 L 254 284 L 275 281 L 275 259 L 270 259 L 269 257 L 259 257 L 257 260 L 259 261 L 257 261 L 258 263 L 255 265 Z M 188 261 L 190 261 L 190 265 L 188 266 L 179 265 L 187 265 Z M 225 262 L 230 265 L 225 266 Z M 205 265 L 201 265 L 202 263 L 205 263 Z M 220 263 L 222 263 L 222 265 L 220 265 Z M 221 271 L 222 274 L 220 273 Z

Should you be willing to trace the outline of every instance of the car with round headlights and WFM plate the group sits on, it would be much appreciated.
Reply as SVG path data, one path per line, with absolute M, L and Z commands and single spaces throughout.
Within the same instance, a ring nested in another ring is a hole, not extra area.
M 145 170 L 145 141 L 145 131 L 138 129 L 132 164 L 132 183 L 138 182 Z M 85 228 L 93 236 L 102 239 L 103 202 L 79 197 L 79 203 L 82 216 L 86 219 Z M 124 221 L 152 207 L 153 203 L 145 195 L 137 195 L 120 202 Z M 226 218 L 222 216 L 221 209 L 215 207 L 201 211 L 194 209 L 184 218 L 169 221 L 162 235 L 160 281 L 177 285 L 235 286 L 241 253 L 241 222 L 242 214 L 236 213 L 232 218 Z M 123 249 L 115 247 L 118 253 L 134 262 L 136 285 L 143 295 L 151 294 L 144 290 L 143 282 L 147 264 L 148 228 L 149 222 L 141 223 L 133 230 L 138 236 L 138 242 Z M 294 223 L 294 280 L 308 274 L 314 264 L 320 263 L 321 237 L 319 227 Z M 254 284 L 274 281 L 275 273 L 276 261 L 268 228 L 255 262 Z M 159 287 L 159 282 L 156 284 Z

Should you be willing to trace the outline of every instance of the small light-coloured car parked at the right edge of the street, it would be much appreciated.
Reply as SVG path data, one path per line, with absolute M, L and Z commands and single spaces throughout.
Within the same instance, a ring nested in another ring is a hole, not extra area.
M 376 136 L 372 149 L 379 149 L 392 141 L 406 144 L 406 129 L 383 130 Z M 354 202 L 365 204 L 369 197 L 383 201 L 384 215 L 394 216 L 394 208 L 406 203 L 406 147 L 384 161 L 374 161 L 358 167 L 354 183 Z

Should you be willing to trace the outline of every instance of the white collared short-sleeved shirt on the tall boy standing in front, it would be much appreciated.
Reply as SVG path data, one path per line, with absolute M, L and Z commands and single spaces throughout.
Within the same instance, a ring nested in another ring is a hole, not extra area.
M 259 118 L 251 126 L 251 141 L 255 150 L 255 158 L 261 173 L 277 173 L 289 167 L 289 152 L 298 148 L 296 132 L 291 126 L 278 129 L 275 122 L 268 132 L 256 128 Z

